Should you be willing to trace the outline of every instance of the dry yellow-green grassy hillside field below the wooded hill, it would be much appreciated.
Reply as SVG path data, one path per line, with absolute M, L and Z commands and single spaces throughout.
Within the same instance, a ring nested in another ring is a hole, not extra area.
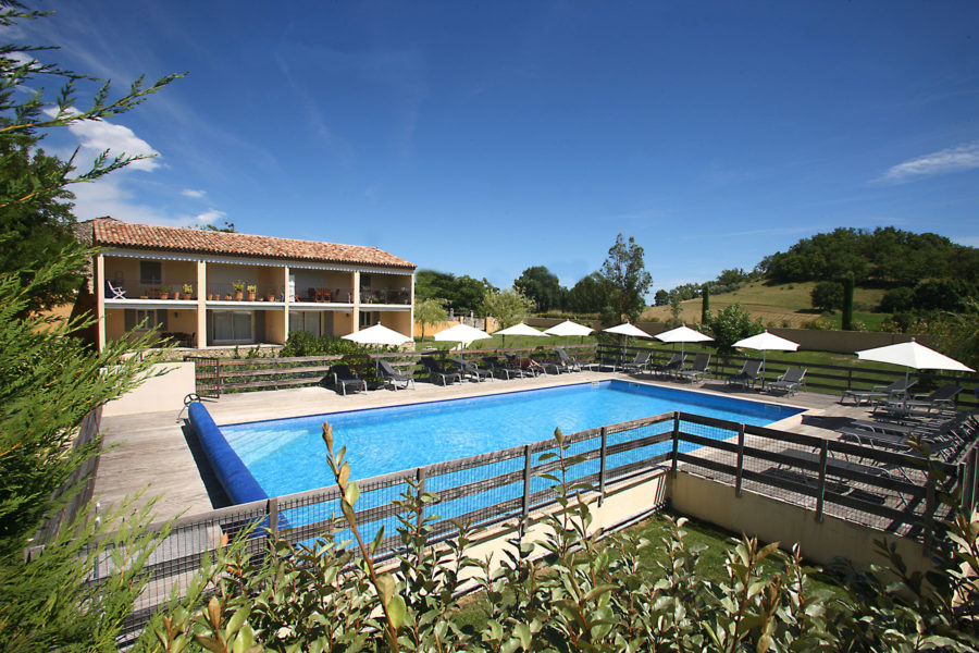
M 811 307 L 810 294 L 816 282 L 766 285 L 752 283 L 734 293 L 710 296 L 710 310 L 716 311 L 732 304 L 741 304 L 754 317 L 760 317 L 766 324 L 774 326 L 802 328 L 815 320 L 819 313 Z M 856 288 L 854 292 L 854 319 L 875 326 L 883 320 L 883 313 L 871 312 L 883 296 L 881 289 Z M 643 320 L 668 320 L 672 317 L 669 306 L 647 308 Z M 680 319 L 684 322 L 701 321 L 701 299 L 689 299 L 682 304 Z M 840 315 L 837 312 L 839 323 Z

